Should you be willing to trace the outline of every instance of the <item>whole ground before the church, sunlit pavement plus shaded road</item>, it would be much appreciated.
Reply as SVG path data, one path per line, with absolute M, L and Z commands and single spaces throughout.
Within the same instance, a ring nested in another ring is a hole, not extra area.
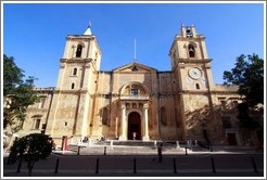
M 26 163 L 7 165 L 4 177 L 27 177 Z M 93 145 L 79 151 L 53 151 L 37 162 L 33 177 L 263 177 L 264 153 L 249 147 L 185 149 Z

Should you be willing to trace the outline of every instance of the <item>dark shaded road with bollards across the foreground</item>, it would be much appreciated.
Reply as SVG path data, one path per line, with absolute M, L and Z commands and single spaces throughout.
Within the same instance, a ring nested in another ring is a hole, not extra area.
M 58 170 L 56 160 L 59 159 Z M 7 165 L 2 177 L 27 177 L 26 163 Z M 264 154 L 77 155 L 51 154 L 35 164 L 31 177 L 264 177 Z

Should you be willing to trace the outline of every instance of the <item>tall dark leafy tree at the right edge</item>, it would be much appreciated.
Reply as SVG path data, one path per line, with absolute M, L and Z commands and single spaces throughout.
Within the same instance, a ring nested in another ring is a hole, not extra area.
M 252 114 L 255 114 L 257 104 L 264 104 L 264 60 L 256 54 L 241 54 L 234 65 L 231 72 L 224 72 L 225 85 L 239 86 L 238 93 L 244 100 L 238 105 L 241 127 L 256 131 L 262 141 L 263 127 Z

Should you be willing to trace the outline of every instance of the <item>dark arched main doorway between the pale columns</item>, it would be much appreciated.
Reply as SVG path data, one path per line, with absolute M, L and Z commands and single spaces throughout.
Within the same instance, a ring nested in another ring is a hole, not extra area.
M 141 117 L 137 112 L 128 116 L 128 140 L 141 140 Z

